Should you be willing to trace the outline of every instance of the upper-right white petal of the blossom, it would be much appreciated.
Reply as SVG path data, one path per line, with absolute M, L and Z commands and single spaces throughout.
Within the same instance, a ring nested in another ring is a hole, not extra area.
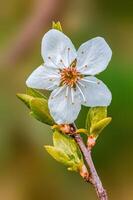
M 83 43 L 77 52 L 77 68 L 85 75 L 95 75 L 107 67 L 112 51 L 102 37 Z

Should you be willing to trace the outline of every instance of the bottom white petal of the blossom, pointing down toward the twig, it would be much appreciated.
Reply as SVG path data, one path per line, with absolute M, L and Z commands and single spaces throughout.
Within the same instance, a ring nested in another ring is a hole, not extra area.
M 81 101 L 78 93 L 71 88 L 62 86 L 55 89 L 48 101 L 50 113 L 57 124 L 70 124 L 77 118 Z

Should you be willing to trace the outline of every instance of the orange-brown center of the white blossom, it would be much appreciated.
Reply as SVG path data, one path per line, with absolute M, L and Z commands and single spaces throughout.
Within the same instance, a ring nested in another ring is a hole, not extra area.
M 76 67 L 73 66 L 61 69 L 60 74 L 61 84 L 68 85 L 70 87 L 75 87 L 77 81 L 82 78 L 80 72 L 78 72 Z

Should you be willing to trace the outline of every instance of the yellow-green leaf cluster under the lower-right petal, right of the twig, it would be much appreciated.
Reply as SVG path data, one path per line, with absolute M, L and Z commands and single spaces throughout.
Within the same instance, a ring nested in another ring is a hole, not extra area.
M 90 108 L 86 118 L 86 129 L 90 135 L 97 138 L 110 121 L 111 118 L 107 117 L 107 107 Z

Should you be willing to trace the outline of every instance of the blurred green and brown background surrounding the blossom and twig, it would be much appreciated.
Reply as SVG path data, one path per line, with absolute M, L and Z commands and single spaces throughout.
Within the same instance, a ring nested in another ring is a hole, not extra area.
M 93 188 L 52 159 L 48 126 L 28 115 L 16 98 L 43 61 L 40 44 L 52 20 L 61 21 L 76 47 L 103 36 L 113 50 L 99 75 L 113 94 L 111 125 L 93 150 L 110 200 L 133 199 L 133 1 L 1 0 L 0 8 L 0 199 L 96 200 Z M 78 118 L 84 127 L 87 109 Z

